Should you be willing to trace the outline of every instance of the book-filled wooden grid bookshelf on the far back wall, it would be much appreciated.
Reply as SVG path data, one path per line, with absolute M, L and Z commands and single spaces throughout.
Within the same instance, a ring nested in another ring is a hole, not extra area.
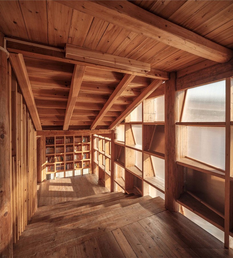
M 91 135 L 46 136 L 45 168 L 51 179 L 90 173 Z

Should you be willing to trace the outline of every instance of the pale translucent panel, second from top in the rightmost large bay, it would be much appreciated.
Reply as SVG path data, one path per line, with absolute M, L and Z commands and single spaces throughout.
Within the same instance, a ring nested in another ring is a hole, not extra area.
M 225 127 L 187 127 L 187 156 L 225 170 Z

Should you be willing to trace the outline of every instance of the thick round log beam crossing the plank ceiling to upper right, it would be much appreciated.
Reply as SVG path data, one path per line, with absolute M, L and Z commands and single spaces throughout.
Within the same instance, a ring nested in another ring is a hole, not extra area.
M 225 63 L 233 57 L 232 50 L 128 1 L 61 0 L 59 3 L 206 59 Z

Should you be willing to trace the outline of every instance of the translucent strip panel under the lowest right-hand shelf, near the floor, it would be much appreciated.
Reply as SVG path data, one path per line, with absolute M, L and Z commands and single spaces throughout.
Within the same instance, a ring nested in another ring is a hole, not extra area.
M 183 207 L 183 211 L 184 211 L 185 217 L 187 217 L 188 219 L 190 219 L 191 221 L 199 225 L 199 227 L 205 229 L 207 232 L 209 232 L 211 235 L 213 235 L 220 241 L 224 242 L 224 231 L 222 231 L 221 229 L 218 229 L 217 227 L 210 224 L 208 221 L 199 217 L 198 215 L 186 209 L 185 207 Z

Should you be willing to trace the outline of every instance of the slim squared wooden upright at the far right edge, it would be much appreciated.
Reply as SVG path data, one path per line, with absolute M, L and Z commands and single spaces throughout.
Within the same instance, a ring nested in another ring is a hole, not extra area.
M 224 219 L 224 246 L 226 248 L 233 247 L 232 237 L 229 231 L 232 231 L 233 221 L 233 78 L 226 78 L 226 160 L 225 160 L 225 219 Z

